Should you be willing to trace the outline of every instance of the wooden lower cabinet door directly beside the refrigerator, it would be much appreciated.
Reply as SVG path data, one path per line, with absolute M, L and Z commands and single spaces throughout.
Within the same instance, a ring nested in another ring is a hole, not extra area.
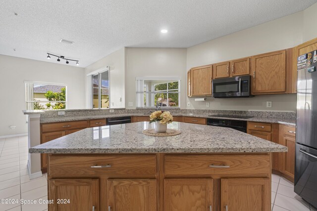
M 287 146 L 288 151 L 280 153 L 281 171 L 294 179 L 295 170 L 295 137 L 283 135 L 281 145 Z

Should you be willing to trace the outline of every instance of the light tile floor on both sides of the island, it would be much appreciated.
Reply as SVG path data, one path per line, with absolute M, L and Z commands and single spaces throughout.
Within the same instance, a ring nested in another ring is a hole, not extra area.
M 27 136 L 0 139 L 0 199 L 47 199 L 47 174 L 30 180 Z M 294 185 L 272 175 L 272 211 L 317 211 L 294 193 Z M 45 204 L 0 204 L 0 211 L 46 211 Z

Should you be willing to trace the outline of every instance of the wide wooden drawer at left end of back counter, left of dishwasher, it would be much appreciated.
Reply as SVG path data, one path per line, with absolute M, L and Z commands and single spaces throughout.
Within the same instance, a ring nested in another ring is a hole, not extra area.
M 76 128 L 86 128 L 87 121 L 76 121 L 76 122 L 64 122 L 64 123 L 52 123 L 52 124 L 43 124 L 42 132 L 51 132 L 59 130 L 68 130 Z

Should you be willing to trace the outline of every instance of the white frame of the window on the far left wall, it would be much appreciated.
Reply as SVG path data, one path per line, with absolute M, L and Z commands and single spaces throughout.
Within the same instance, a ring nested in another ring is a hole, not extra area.
M 43 84 L 43 85 L 60 85 L 65 86 L 65 101 L 49 101 L 49 100 L 41 100 L 41 101 L 35 101 L 34 99 L 34 84 Z M 25 103 L 27 110 L 34 110 L 34 104 L 35 102 L 42 102 L 42 103 L 65 103 L 65 109 L 44 109 L 44 110 L 67 110 L 68 105 L 68 94 L 67 94 L 67 84 L 61 84 L 61 83 L 51 83 L 51 82 L 36 82 L 36 81 L 24 81 L 25 86 Z M 33 96 L 33 97 L 31 97 Z M 31 109 L 28 109 L 28 103 L 31 104 Z M 41 111 L 41 110 L 39 110 Z

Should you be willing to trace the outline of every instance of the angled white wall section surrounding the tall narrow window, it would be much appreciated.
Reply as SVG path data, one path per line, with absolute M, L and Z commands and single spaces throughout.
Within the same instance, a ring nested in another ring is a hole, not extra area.
M 105 68 L 106 66 L 109 66 L 110 68 L 110 108 L 124 108 L 125 48 L 121 48 L 86 67 L 85 75 L 98 69 Z M 87 76 L 85 77 L 86 108 L 90 108 L 90 89 L 88 87 Z

